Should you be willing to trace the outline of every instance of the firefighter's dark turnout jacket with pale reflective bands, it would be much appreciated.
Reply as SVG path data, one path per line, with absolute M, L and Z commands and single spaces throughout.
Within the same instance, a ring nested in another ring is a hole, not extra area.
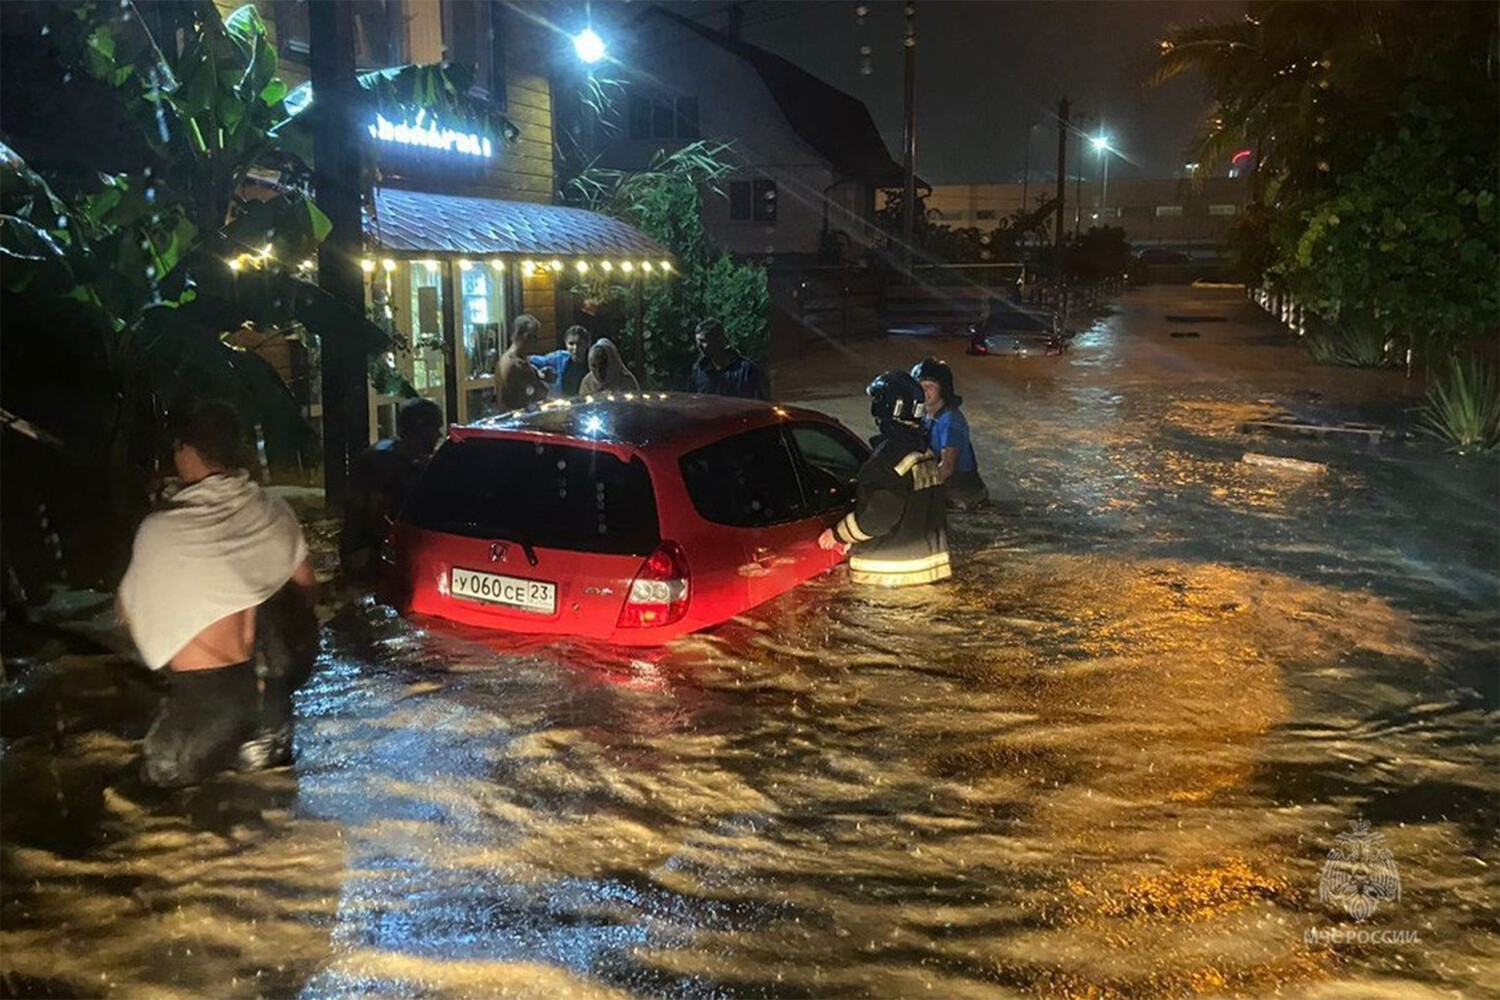
M 855 583 L 915 586 L 952 574 L 932 450 L 886 438 L 860 469 L 856 487 L 854 511 L 834 528 L 838 541 L 854 546 L 849 576 Z

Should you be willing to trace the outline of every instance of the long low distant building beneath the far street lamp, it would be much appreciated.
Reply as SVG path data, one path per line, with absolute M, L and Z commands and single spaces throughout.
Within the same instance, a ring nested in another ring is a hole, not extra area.
M 1030 208 L 1056 195 L 1052 180 L 1024 187 Z M 954 228 L 994 229 L 1000 219 L 1022 207 L 1022 184 L 945 184 L 933 189 L 927 208 L 933 220 Z M 1110 180 L 1108 190 L 1098 180 L 1080 186 L 1070 181 L 1065 192 L 1064 228 L 1112 225 L 1125 229 L 1137 250 L 1167 247 L 1194 256 L 1215 256 L 1234 219 L 1250 204 L 1250 177 L 1208 177 L 1148 180 L 1126 177 Z M 1107 201 L 1106 201 L 1107 198 Z

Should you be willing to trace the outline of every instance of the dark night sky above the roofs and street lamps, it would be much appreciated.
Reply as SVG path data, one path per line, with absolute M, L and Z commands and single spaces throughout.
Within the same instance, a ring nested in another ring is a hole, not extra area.
M 668 6 L 723 31 L 734 4 L 676 0 Z M 747 42 L 864 100 L 900 159 L 902 3 L 872 0 L 862 27 L 850 0 L 740 6 Z M 1196 79 L 1144 87 L 1156 42 L 1167 24 L 1228 19 L 1242 10 L 1232 0 L 918 0 L 916 169 L 934 184 L 1020 181 L 1026 124 L 1036 121 L 1032 178 L 1050 175 L 1058 157 L 1052 121 L 1066 96 L 1074 114 L 1104 117 L 1126 160 L 1114 160 L 1112 175 L 1178 177 L 1208 99 Z M 860 72 L 861 45 L 873 49 L 870 75 Z M 1090 153 L 1086 175 L 1092 159 Z

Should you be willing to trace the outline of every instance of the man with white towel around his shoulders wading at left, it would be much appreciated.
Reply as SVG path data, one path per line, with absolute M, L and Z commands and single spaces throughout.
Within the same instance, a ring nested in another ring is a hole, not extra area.
M 141 658 L 166 670 L 142 747 L 150 784 L 291 759 L 291 691 L 315 652 L 318 579 L 297 516 L 250 481 L 243 451 L 230 405 L 183 414 L 172 442 L 182 489 L 141 523 L 120 582 L 116 604 Z

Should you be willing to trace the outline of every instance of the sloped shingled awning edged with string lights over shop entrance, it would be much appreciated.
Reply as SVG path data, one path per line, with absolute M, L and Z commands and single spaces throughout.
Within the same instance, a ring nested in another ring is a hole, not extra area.
M 396 253 L 670 256 L 640 229 L 597 211 L 396 187 L 375 190 L 366 226 Z

